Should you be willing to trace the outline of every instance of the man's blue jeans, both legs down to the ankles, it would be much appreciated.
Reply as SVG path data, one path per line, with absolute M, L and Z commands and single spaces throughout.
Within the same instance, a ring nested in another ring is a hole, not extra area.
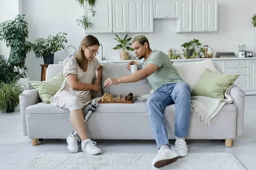
M 175 104 L 175 136 L 186 137 L 190 115 L 190 86 L 185 82 L 164 84 L 152 93 L 146 104 L 148 119 L 157 147 L 169 145 L 163 113 L 168 105 Z

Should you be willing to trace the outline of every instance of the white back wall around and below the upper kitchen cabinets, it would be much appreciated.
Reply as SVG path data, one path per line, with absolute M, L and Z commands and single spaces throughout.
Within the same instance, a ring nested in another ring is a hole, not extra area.
M 3 0 L 2 0 L 3 1 Z M 154 20 L 154 32 L 145 34 L 152 49 L 159 49 L 167 53 L 169 47 L 182 52 L 182 45 L 192 39 L 198 39 L 202 45 L 217 51 L 234 51 L 238 53 L 238 45 L 246 44 L 248 50 L 254 49 L 254 28 L 251 17 L 256 11 L 254 0 L 218 0 L 218 33 L 187 33 L 175 34 L 174 20 Z M 67 45 L 78 48 L 80 41 L 86 36 L 84 30 L 76 25 L 76 19 L 83 15 L 83 9 L 76 0 L 23 0 L 23 13 L 29 23 L 29 40 L 47 37 L 49 34 L 66 32 Z M 96 8 L 96 11 L 99 10 Z M 107 60 L 119 60 L 119 51 L 113 48 L 117 42 L 114 34 L 94 34 L 102 43 Z M 125 34 L 118 34 L 124 36 Z M 131 34 L 130 37 L 135 34 Z M 101 49 L 99 48 L 99 51 Z M 256 52 L 255 52 L 256 55 Z M 97 58 L 100 58 L 98 54 Z M 55 53 L 55 63 L 63 61 L 67 54 L 62 50 Z M 43 59 L 36 59 L 32 52 L 26 59 L 29 69 L 28 77 L 40 80 Z

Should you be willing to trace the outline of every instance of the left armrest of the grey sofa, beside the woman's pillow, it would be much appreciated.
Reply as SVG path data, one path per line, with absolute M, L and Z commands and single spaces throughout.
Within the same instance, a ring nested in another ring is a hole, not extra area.
M 41 102 L 38 91 L 36 89 L 33 90 L 25 90 L 23 93 L 19 95 L 20 99 L 20 116 L 21 116 L 21 125 L 23 130 L 23 135 L 27 136 L 26 129 L 26 108 L 31 105 L 35 105 Z

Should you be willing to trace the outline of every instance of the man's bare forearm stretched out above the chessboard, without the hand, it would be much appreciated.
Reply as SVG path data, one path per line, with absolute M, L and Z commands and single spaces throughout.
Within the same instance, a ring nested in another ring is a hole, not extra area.
M 139 70 L 134 72 L 134 74 L 130 74 L 125 77 L 120 77 L 117 79 L 119 83 L 128 83 L 128 82 L 138 82 L 140 80 L 143 80 L 147 78 L 146 74 L 144 73 L 143 70 Z

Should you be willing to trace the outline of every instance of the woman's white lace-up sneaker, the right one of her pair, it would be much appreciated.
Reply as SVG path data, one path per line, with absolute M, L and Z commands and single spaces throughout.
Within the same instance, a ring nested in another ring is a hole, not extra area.
M 96 155 L 102 152 L 101 149 L 95 146 L 96 142 L 93 142 L 91 139 L 86 139 L 81 143 L 81 150 L 90 155 Z

